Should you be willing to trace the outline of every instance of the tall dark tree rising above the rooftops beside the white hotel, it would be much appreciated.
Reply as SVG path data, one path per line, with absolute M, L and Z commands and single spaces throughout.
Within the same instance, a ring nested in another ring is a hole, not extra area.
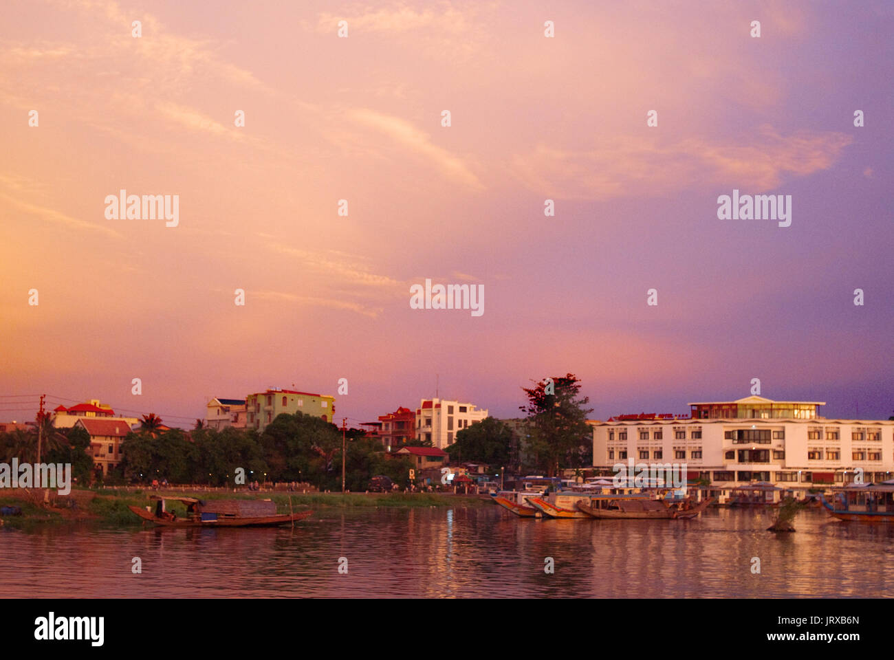
M 534 456 L 536 467 L 554 477 L 562 468 L 578 468 L 586 463 L 587 442 L 592 431 L 586 416 L 593 411 L 584 408 L 588 397 L 578 398 L 580 381 L 574 374 L 552 377 L 522 389 L 527 405 L 519 410 L 527 413 L 531 437 L 527 453 Z M 533 381 L 532 381 L 533 382 Z

